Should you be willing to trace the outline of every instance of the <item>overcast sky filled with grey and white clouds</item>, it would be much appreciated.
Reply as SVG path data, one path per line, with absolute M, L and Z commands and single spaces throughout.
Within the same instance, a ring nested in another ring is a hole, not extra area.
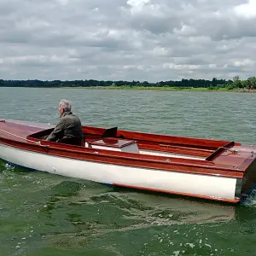
M 0 79 L 256 76 L 256 0 L 0 0 Z

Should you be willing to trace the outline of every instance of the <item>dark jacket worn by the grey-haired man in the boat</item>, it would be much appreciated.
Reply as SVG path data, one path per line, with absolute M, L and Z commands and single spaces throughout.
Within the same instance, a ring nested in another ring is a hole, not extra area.
M 81 141 L 84 138 L 84 133 L 82 131 L 82 125 L 80 119 L 74 115 L 72 112 L 64 112 L 61 115 L 61 118 L 57 125 L 55 126 L 54 131 L 49 134 L 47 140 L 49 142 L 58 142 L 68 144 L 78 144 L 72 143 L 72 141 L 80 139 Z

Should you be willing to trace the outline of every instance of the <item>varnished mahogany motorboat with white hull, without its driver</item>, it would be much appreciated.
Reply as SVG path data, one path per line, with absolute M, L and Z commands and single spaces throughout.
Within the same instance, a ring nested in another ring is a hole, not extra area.
M 53 129 L 0 120 L 0 158 L 97 183 L 231 203 L 255 186 L 255 146 L 90 126 L 83 126 L 83 147 L 42 140 Z

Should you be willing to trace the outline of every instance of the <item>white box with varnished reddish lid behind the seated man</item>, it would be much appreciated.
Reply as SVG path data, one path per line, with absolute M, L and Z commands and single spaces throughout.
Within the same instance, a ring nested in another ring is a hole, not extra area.
M 120 152 L 139 153 L 137 142 L 132 140 L 119 139 L 115 137 L 104 137 L 88 143 L 89 148 L 101 148 Z

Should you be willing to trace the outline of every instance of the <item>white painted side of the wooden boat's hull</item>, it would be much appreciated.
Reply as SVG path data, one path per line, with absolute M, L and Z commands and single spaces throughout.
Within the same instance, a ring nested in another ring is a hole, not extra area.
M 15 165 L 98 183 L 235 199 L 236 178 L 165 172 L 39 154 L 0 144 L 0 158 Z M 120 163 L 121 164 L 121 163 Z

